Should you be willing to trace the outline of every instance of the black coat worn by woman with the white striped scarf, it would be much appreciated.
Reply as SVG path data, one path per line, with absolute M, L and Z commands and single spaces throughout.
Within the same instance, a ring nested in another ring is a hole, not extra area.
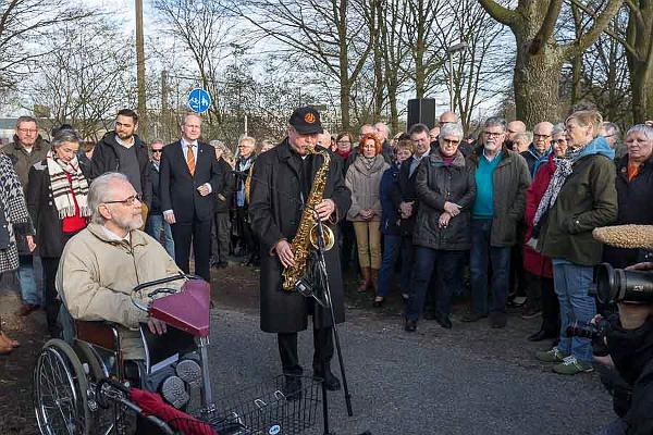
M 36 229 L 36 253 L 42 258 L 61 257 L 65 243 L 62 223 L 50 189 L 50 173 L 46 160 L 35 163 L 29 169 L 26 200 Z

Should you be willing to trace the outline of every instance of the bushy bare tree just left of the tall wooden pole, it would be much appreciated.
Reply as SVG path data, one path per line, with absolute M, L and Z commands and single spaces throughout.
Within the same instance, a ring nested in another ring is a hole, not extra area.
M 52 125 L 73 124 L 98 139 L 124 107 L 135 107 L 135 53 L 120 25 L 107 16 L 59 23 L 42 49 L 50 54 L 23 86 L 29 107 L 47 108 Z M 109 121 L 108 121 L 109 120 Z

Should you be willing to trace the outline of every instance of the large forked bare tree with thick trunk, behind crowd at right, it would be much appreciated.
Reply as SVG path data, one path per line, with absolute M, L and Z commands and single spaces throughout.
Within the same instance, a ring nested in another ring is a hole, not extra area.
M 517 117 L 532 125 L 558 117 L 558 85 L 563 63 L 582 53 L 605 30 L 623 0 L 584 5 L 592 20 L 582 35 L 571 40 L 556 38 L 563 0 L 518 0 L 510 9 L 495 0 L 479 0 L 500 23 L 508 26 L 517 42 L 513 76 Z M 579 3 L 580 0 L 575 1 Z

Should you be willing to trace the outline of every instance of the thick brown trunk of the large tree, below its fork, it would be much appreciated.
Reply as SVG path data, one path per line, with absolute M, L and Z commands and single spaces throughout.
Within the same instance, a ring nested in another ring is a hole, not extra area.
M 539 122 L 559 120 L 559 77 L 563 61 L 555 50 L 529 54 L 517 38 L 517 62 L 513 86 L 517 119 L 532 128 Z

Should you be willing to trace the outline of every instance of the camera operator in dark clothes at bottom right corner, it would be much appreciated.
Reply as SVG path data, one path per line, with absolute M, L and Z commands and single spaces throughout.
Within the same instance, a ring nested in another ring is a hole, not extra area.
M 613 393 L 614 410 L 619 418 L 601 435 L 653 434 L 653 295 L 650 293 L 653 262 L 638 263 L 625 271 L 638 273 L 642 281 L 649 282 L 648 288 L 643 288 L 649 297 L 633 301 L 626 291 L 616 298 L 618 315 L 607 320 L 597 315 L 593 320 L 595 324 L 607 322 L 604 340 L 608 351 L 607 356 L 594 356 L 594 360 L 615 369 L 626 383 L 623 386 L 617 383 Z M 612 272 L 608 271 L 608 274 Z M 597 275 L 599 285 L 600 281 Z M 612 279 L 611 285 L 615 287 Z

